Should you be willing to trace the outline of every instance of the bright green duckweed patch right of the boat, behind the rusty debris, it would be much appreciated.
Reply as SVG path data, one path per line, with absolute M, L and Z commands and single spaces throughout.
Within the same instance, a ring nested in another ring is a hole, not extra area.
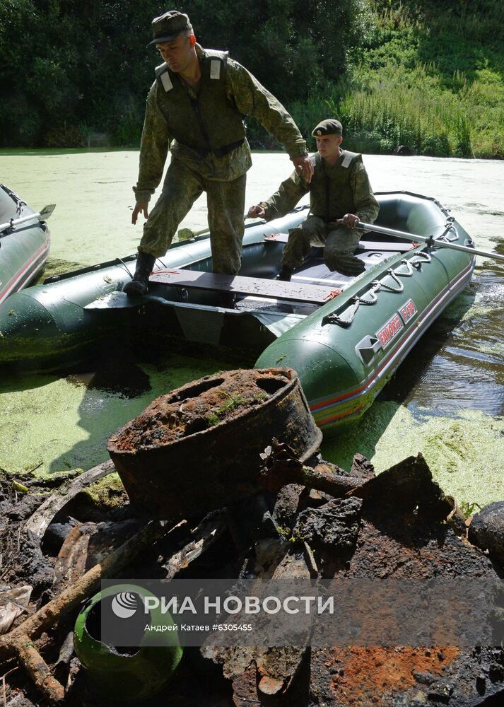
M 459 503 L 487 503 L 504 498 L 504 419 L 479 410 L 454 416 L 415 416 L 394 402 L 375 402 L 367 416 L 344 435 L 324 440 L 322 456 L 350 468 L 356 449 L 382 472 L 421 452 L 435 481 Z M 377 430 L 383 430 L 377 437 Z

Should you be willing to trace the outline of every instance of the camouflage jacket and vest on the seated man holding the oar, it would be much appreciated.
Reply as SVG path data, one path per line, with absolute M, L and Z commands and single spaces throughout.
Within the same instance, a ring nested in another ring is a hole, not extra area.
M 324 221 L 334 221 L 345 214 L 356 214 L 361 221 L 373 223 L 380 206 L 375 199 L 361 155 L 341 151 L 334 165 L 327 165 L 320 155 L 311 157 L 314 164 L 312 181 L 307 184 L 295 171 L 283 181 L 279 190 L 266 201 L 266 221 L 291 211 L 304 194 L 310 192 L 310 213 Z

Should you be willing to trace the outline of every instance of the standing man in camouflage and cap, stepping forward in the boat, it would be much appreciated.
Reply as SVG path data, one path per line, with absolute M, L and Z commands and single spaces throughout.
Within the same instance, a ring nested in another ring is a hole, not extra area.
M 201 192 L 206 192 L 209 210 L 213 271 L 238 273 L 246 173 L 252 165 L 244 115 L 259 119 L 285 146 L 306 182 L 313 172 L 295 122 L 247 69 L 229 59 L 227 52 L 200 47 L 183 13 L 166 12 L 152 25 L 150 43 L 156 45 L 164 63 L 156 69 L 156 81 L 147 97 L 131 216 L 136 223 L 143 213 L 147 221 L 135 274 L 124 286 L 128 294 L 147 292 L 156 257 L 165 255 L 180 221 Z M 148 201 L 163 176 L 172 140 L 163 192 L 148 214 Z

